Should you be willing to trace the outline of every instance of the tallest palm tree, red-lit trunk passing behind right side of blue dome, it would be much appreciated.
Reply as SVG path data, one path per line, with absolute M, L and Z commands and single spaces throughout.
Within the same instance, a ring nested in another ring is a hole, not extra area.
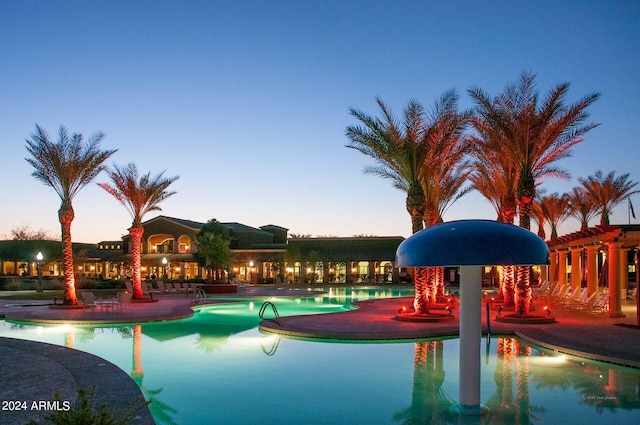
M 569 83 L 558 84 L 539 102 L 535 75 L 531 72 L 520 74 L 518 84 L 508 84 L 494 99 L 481 89 L 469 90 L 476 114 L 488 123 L 494 142 L 503 144 L 500 149 L 516 163 L 516 200 L 520 227 L 525 229 L 531 228 L 531 208 L 540 180 L 569 179 L 569 174 L 555 163 L 569 157 L 571 148 L 598 126 L 584 122 L 589 117 L 587 107 L 600 94 L 591 93 L 566 105 L 568 90 Z M 527 315 L 531 301 L 530 268 L 518 267 L 517 275 L 516 309 L 518 314 Z

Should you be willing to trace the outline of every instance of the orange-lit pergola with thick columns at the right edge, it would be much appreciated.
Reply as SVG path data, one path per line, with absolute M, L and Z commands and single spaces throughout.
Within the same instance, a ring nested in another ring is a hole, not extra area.
M 547 242 L 550 253 L 548 269 L 541 271 L 542 279 L 570 285 L 572 290 L 580 287 L 581 264 L 585 262 L 587 291 L 598 290 L 599 277 L 606 278 L 609 295 L 608 317 L 623 317 L 622 296 L 626 291 L 629 276 L 628 252 L 640 247 L 640 225 L 601 225 L 570 233 Z M 583 252 L 586 255 L 583 256 Z M 598 270 L 598 252 L 605 261 Z M 571 256 L 571 267 L 567 257 Z M 571 273 L 571 279 L 568 274 Z M 638 270 L 636 270 L 637 276 Z M 637 278 L 637 277 L 636 277 Z M 624 294 L 626 296 L 626 293 Z

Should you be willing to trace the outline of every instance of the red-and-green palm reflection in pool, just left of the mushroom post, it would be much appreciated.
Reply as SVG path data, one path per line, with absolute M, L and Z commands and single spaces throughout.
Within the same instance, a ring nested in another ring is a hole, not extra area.
M 415 343 L 411 407 L 396 413 L 394 421 L 404 425 L 457 423 L 457 415 L 451 412 L 454 402 L 442 389 L 443 348 L 443 341 Z

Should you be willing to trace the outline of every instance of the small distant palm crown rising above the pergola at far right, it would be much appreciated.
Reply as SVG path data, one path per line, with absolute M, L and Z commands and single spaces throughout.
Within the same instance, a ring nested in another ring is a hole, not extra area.
M 629 174 L 622 174 L 616 177 L 615 172 L 611 171 L 604 176 L 602 171 L 596 171 L 595 175 L 586 179 L 579 178 L 578 182 L 588 194 L 593 204 L 596 206 L 600 214 L 600 224 L 608 225 L 611 211 L 627 196 L 638 193 L 633 190 L 638 182 L 629 180 Z

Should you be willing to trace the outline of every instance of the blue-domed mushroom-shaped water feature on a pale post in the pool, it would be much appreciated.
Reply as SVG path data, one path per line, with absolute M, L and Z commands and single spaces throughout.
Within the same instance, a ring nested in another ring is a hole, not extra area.
M 405 239 L 396 267 L 460 267 L 460 393 L 457 411 L 481 415 L 482 266 L 549 264 L 547 244 L 530 231 L 492 220 L 450 221 Z

